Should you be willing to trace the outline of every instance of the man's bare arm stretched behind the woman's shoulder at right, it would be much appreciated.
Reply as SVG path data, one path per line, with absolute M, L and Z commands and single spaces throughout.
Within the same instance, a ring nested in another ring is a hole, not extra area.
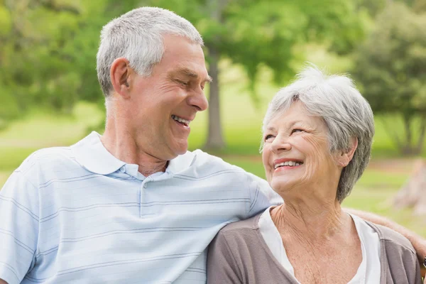
M 425 276 L 426 268 L 425 266 L 423 266 L 423 262 L 425 261 L 425 256 L 426 256 L 426 239 L 422 238 L 418 234 L 415 234 L 415 232 L 410 231 L 404 226 L 401 226 L 400 224 L 396 224 L 395 222 L 391 221 L 388 218 L 381 217 L 373 213 L 356 210 L 356 209 L 345 208 L 344 210 L 358 217 L 361 217 L 362 219 L 365 219 L 369 222 L 386 226 L 389 229 L 393 229 L 393 231 L 398 231 L 398 233 L 405 236 L 405 238 L 407 238 L 411 242 L 411 244 L 413 244 L 413 247 L 415 251 L 417 252 L 417 258 L 420 262 L 420 266 L 422 267 L 422 276 Z

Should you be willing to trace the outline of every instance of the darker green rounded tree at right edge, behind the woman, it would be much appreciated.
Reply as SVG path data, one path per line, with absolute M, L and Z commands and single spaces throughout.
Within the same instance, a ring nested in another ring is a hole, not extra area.
M 388 133 L 404 154 L 420 153 L 425 141 L 425 27 L 425 15 L 402 3 L 388 4 L 355 57 L 353 74 L 373 111 L 402 116 L 405 133 L 395 133 L 391 126 Z M 416 118 L 419 124 L 414 124 Z M 414 126 L 418 130 L 413 132 Z

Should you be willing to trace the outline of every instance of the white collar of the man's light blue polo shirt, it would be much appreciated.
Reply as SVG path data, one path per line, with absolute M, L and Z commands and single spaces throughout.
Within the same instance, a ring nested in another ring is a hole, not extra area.
M 109 153 L 101 142 L 101 136 L 96 131 L 92 131 L 88 136 L 71 146 L 77 163 L 92 173 L 99 175 L 109 175 L 126 165 L 122 160 L 117 159 Z M 187 151 L 183 155 L 170 160 L 166 172 L 175 174 L 189 168 L 194 163 L 196 153 Z

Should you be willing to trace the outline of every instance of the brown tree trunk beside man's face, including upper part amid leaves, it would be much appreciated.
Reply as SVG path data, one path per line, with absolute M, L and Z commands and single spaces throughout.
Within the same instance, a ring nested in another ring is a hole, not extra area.
M 226 5 L 226 0 L 209 0 L 207 6 L 211 12 L 211 17 L 217 23 L 222 23 L 222 11 Z M 219 36 L 214 42 L 219 42 Z M 225 147 L 224 137 L 222 133 L 222 121 L 220 118 L 219 104 L 219 59 L 220 52 L 214 42 L 208 45 L 209 49 L 209 75 L 212 76 L 213 82 L 209 85 L 209 131 L 207 133 L 207 141 L 204 148 L 222 149 Z

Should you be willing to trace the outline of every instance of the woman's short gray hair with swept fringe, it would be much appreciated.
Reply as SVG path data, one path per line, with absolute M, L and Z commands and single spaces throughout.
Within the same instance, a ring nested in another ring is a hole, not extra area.
M 273 97 L 263 119 L 263 132 L 273 117 L 283 114 L 300 101 L 313 116 L 320 116 L 328 128 L 329 152 L 349 151 L 352 138 L 358 139 L 354 157 L 342 170 L 337 200 L 342 203 L 368 165 L 374 136 L 373 111 L 349 77 L 324 75 L 311 65 L 297 80 Z M 263 148 L 263 143 L 261 149 Z

